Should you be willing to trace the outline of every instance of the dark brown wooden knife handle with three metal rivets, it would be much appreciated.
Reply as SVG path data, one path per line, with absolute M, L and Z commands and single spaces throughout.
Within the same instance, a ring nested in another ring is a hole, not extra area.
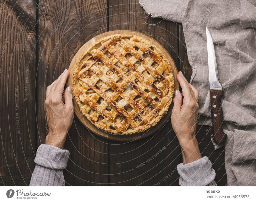
M 211 96 L 211 112 L 212 112 L 212 134 L 213 140 L 216 143 L 221 143 L 226 140 L 227 135 L 223 132 L 223 113 L 221 106 L 221 98 L 223 96 L 221 90 L 210 90 Z

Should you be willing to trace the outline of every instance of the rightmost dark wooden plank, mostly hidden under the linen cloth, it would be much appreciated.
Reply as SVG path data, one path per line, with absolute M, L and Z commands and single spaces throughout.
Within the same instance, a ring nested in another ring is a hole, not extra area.
M 180 71 L 182 71 L 186 79 L 189 81 L 192 75 L 192 68 L 188 62 L 187 48 L 185 44 L 183 28 L 181 25 L 179 26 L 179 38 Z M 218 186 L 226 186 L 227 175 L 224 165 L 225 150 L 224 147 L 218 150 L 214 149 L 211 136 L 206 132 L 207 129 L 209 130 L 209 126 L 197 125 L 196 138 L 198 140 L 199 149 L 202 153 L 202 156 L 207 156 L 212 162 L 212 168 L 216 172 L 215 182 L 218 184 Z

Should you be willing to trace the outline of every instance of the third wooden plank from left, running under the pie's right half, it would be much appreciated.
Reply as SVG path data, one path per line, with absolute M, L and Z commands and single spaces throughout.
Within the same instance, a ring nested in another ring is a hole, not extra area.
M 147 16 L 137 0 L 109 1 L 110 30 L 128 29 L 149 35 L 167 49 L 176 65 L 179 64 L 175 53 L 178 50 L 177 25 Z M 178 185 L 176 166 L 180 163 L 180 147 L 171 120 L 145 139 L 128 143 L 109 141 L 109 153 L 110 185 Z

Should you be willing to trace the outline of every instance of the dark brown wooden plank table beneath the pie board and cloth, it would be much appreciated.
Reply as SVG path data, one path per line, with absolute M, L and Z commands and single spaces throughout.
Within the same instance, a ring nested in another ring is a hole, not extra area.
M 92 37 L 118 29 L 150 34 L 190 80 L 182 26 L 152 19 L 138 0 L 0 0 L 0 14 L 1 186 L 29 184 L 36 149 L 47 134 L 46 87 Z M 212 161 L 215 181 L 224 186 L 224 150 L 214 150 L 208 128 L 197 126 L 199 147 Z M 75 118 L 65 148 L 70 151 L 66 186 L 179 185 L 182 156 L 170 120 L 148 138 L 120 143 L 99 138 Z

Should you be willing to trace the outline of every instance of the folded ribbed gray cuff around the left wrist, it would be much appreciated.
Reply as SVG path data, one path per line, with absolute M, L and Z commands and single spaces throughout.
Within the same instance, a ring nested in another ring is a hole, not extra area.
M 68 150 L 42 144 L 37 149 L 35 163 L 45 168 L 64 169 L 67 167 L 68 157 Z

